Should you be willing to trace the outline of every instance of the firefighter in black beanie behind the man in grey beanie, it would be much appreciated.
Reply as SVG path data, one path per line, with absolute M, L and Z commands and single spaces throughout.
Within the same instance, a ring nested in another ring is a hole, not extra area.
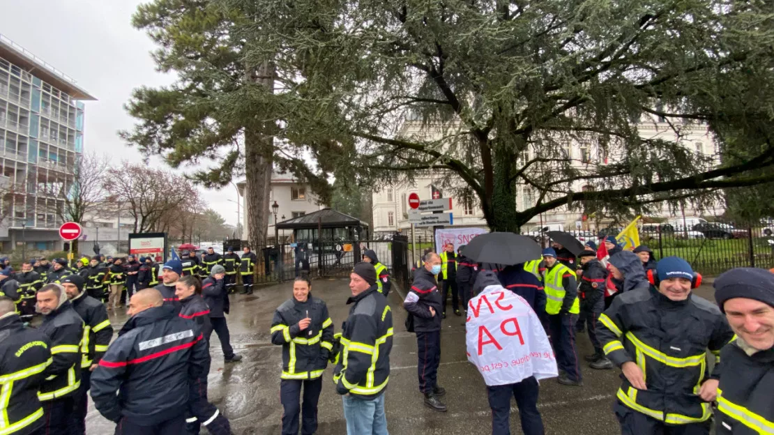
M 86 433 L 87 392 L 91 385 L 91 372 L 97 368 L 104 352 L 108 351 L 113 327 L 110 326 L 108 309 L 104 307 L 104 303 L 89 296 L 84 290 L 83 277 L 65 276 L 62 286 L 67 293 L 67 299 L 73 304 L 73 309 L 84 320 L 84 337 L 80 344 L 80 388 L 75 398 L 73 413 L 77 433 Z

